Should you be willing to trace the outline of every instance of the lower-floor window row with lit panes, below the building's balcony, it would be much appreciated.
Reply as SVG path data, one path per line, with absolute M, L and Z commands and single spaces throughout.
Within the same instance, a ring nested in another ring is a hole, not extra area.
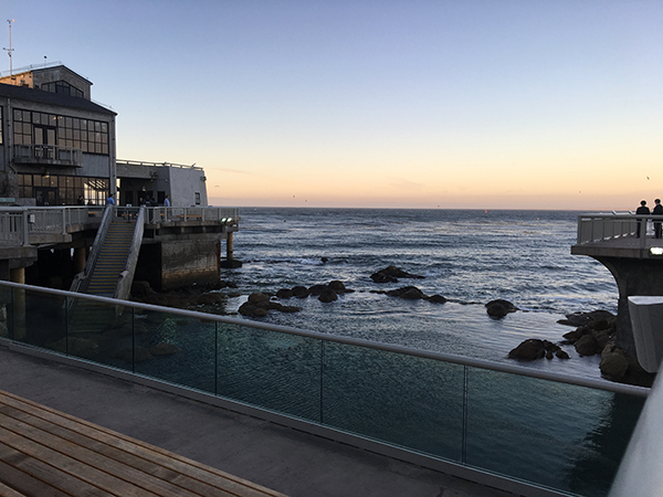
M 78 197 L 86 204 L 104 205 L 108 198 L 108 178 L 88 178 L 82 176 L 19 175 L 19 195 L 21 198 L 46 198 L 50 204 L 76 205 Z

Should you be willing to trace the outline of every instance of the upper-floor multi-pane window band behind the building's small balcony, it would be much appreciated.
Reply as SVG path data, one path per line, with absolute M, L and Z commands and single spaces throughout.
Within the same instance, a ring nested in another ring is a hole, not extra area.
M 108 155 L 108 123 L 14 109 L 14 144 L 57 145 Z

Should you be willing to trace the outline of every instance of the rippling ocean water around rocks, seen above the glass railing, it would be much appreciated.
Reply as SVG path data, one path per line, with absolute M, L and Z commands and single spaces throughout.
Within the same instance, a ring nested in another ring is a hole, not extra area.
M 570 254 L 577 211 L 244 208 L 234 255 L 243 262 L 221 277 L 242 296 L 295 285 L 341 281 L 355 292 L 334 303 L 316 297 L 281 300 L 301 313 L 271 311 L 261 321 L 399 343 L 495 361 L 527 338 L 560 341 L 566 314 L 617 313 L 612 275 L 590 257 Z M 323 261 L 326 258 L 326 262 Z M 424 276 L 376 284 L 389 265 Z M 372 293 L 414 285 L 446 304 Z M 484 305 L 495 298 L 520 311 L 495 320 Z M 539 360 L 523 366 L 600 378 L 599 358 Z

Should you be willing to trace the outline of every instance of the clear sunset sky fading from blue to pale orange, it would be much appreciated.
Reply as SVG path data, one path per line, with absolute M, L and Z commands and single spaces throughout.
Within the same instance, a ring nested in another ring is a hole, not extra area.
M 661 0 L 0 6 L 14 70 L 60 61 L 92 81 L 118 114 L 117 158 L 196 163 L 210 204 L 663 197 Z

